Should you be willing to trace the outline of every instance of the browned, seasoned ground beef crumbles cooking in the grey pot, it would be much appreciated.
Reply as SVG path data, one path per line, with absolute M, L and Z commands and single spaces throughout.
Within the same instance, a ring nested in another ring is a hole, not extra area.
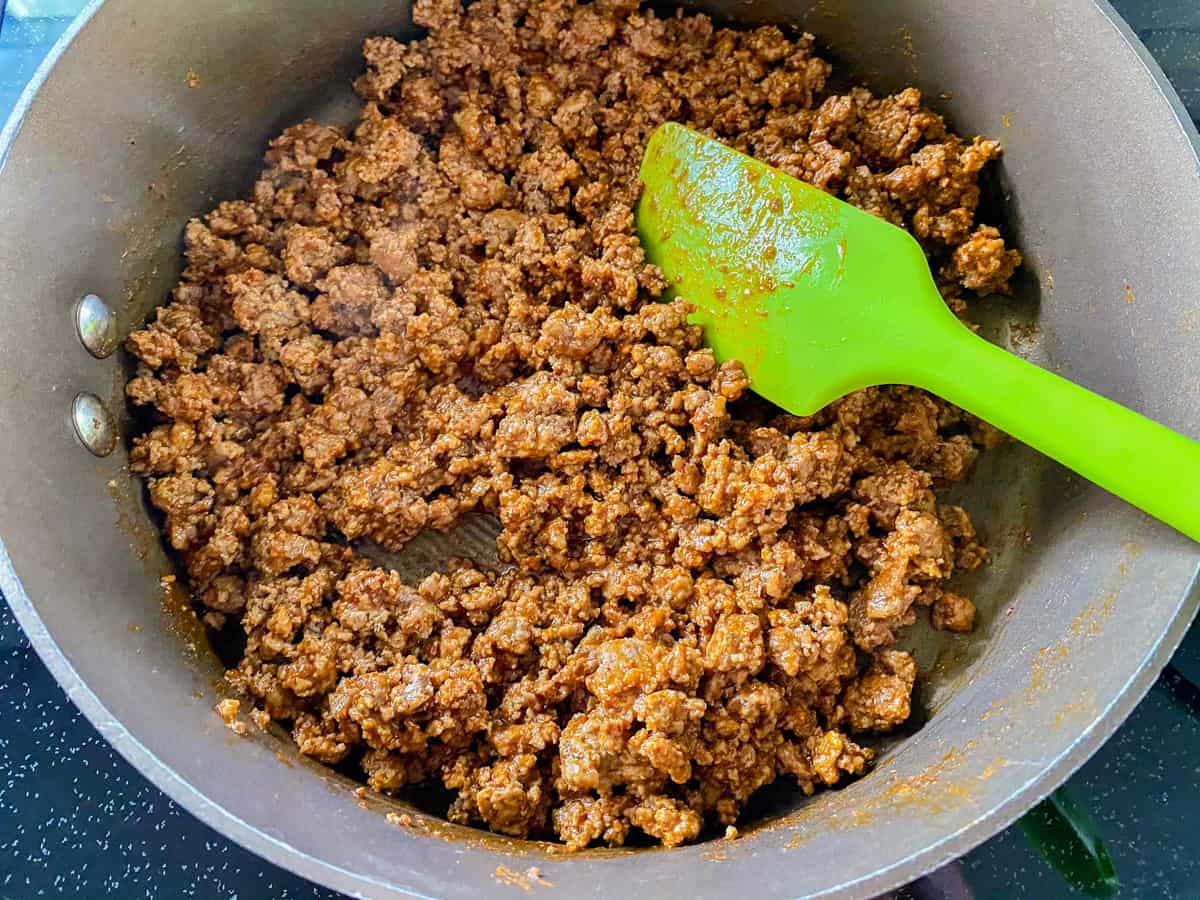
M 781 415 L 718 365 L 634 233 L 649 132 L 678 120 L 908 228 L 947 301 L 1019 263 L 977 226 L 990 140 L 913 89 L 824 91 L 810 36 L 631 0 L 420 0 L 366 42 L 352 133 L 271 143 L 186 230 L 128 340 L 134 468 L 229 680 L 300 750 L 456 822 L 572 848 L 732 823 L 776 778 L 863 772 L 910 715 L 893 649 L 985 559 L 962 478 L 983 426 L 911 388 Z M 468 511 L 502 571 L 406 584 L 395 551 Z M 359 547 L 359 550 L 356 550 Z

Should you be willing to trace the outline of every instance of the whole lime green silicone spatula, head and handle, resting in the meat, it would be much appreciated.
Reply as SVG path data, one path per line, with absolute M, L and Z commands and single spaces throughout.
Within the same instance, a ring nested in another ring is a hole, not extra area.
M 682 125 L 641 175 L 648 258 L 761 396 L 808 415 L 913 384 L 1200 540 L 1200 444 L 976 336 L 907 232 Z

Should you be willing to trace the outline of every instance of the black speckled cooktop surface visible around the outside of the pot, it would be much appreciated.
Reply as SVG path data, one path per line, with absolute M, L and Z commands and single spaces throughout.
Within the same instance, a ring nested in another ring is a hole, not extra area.
M 1200 0 L 1114 0 L 1200 118 Z M 0 0 L 0 118 L 83 0 Z M 1198 286 L 1200 289 L 1200 286 Z M 1190 680 L 1189 680 L 1190 679 Z M 1117 734 L 1069 782 L 1121 896 L 1200 898 L 1200 625 Z M 1079 896 L 1004 832 L 902 896 Z M 320 899 L 181 810 L 76 712 L 0 601 L 0 900 Z

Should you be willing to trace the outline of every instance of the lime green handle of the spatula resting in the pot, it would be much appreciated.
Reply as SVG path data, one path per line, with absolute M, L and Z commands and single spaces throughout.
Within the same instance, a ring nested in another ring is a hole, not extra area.
M 956 320 L 906 380 L 974 413 L 1193 540 L 1200 443 L 1046 372 Z

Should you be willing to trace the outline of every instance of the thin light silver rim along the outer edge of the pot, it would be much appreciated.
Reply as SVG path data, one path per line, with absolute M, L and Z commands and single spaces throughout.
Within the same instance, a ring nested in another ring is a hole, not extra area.
M 1192 146 L 1196 173 L 1200 174 L 1200 133 L 1198 133 L 1195 124 L 1175 88 L 1150 50 L 1109 0 L 1090 0 L 1090 2 L 1134 50 L 1146 73 L 1154 82 L 1159 96 L 1171 108 L 1176 124 Z M 88 25 L 103 4 L 104 0 L 91 0 L 88 4 L 54 43 L 22 91 L 12 113 L 0 130 L 0 174 L 2 174 L 4 163 L 25 114 L 32 106 L 43 82 L 76 36 Z M 350 871 L 301 851 L 284 840 L 272 838 L 215 803 L 182 779 L 108 710 L 71 665 L 42 622 L 31 598 L 25 593 L 2 538 L 0 538 L 0 593 L 8 601 L 10 608 L 38 658 L 88 721 L 143 776 L 202 822 L 275 865 L 353 896 L 368 896 L 370 894 L 364 892 L 372 889 L 382 889 L 391 895 L 426 896 L 409 888 Z M 1200 566 L 1193 571 L 1192 580 L 1182 590 L 1170 624 L 1138 665 L 1133 676 L 1121 688 L 1112 702 L 1096 714 L 1091 725 L 1084 728 L 1056 760 L 1028 779 L 1004 803 L 984 812 L 956 832 L 943 835 L 937 842 L 896 860 L 884 869 L 854 881 L 830 886 L 811 896 L 871 896 L 890 890 L 964 856 L 1010 826 L 1034 804 L 1067 781 L 1124 722 L 1174 655 L 1190 626 L 1198 607 L 1200 607 Z

